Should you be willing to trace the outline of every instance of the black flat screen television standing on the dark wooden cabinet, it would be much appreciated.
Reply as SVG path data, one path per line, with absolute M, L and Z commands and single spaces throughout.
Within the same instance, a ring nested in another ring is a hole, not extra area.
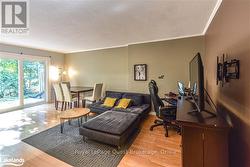
M 197 111 L 201 112 L 204 110 L 205 101 L 204 72 L 200 53 L 197 53 L 189 63 L 189 77 L 193 102 L 195 103 Z

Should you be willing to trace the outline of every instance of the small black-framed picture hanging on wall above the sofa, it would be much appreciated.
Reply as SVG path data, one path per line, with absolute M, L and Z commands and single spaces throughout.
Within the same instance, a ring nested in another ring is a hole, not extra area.
M 147 80 L 147 64 L 134 65 L 134 80 L 146 81 Z

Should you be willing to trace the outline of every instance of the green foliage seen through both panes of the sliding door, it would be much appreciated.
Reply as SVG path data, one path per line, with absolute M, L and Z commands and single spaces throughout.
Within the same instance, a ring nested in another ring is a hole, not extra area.
M 24 98 L 44 92 L 45 66 L 38 61 L 23 61 Z M 0 59 L 0 102 L 18 99 L 18 60 Z

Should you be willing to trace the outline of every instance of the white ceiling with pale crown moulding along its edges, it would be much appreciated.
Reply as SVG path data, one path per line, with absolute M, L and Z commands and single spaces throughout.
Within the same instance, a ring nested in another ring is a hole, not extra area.
M 30 33 L 1 43 L 62 53 L 202 35 L 217 0 L 30 0 Z

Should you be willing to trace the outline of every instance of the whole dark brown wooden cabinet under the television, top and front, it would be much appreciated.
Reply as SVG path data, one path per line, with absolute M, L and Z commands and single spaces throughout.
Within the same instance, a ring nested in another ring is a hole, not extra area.
M 178 99 L 176 120 L 182 129 L 183 167 L 228 167 L 229 125 L 207 112 L 192 112 L 194 105 Z M 205 109 L 213 112 L 205 103 Z

